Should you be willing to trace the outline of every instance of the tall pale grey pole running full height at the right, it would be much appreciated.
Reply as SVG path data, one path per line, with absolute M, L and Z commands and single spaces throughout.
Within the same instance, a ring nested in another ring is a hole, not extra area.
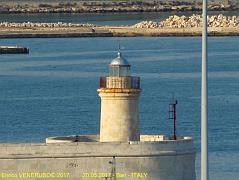
M 208 180 L 207 129 L 207 0 L 203 0 L 202 84 L 201 84 L 201 180 Z

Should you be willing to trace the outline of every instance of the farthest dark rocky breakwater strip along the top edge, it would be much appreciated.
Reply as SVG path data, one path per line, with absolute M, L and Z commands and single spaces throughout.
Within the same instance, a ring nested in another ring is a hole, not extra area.
M 210 2 L 211 11 L 238 10 L 238 3 Z M 199 1 L 36 1 L 0 3 L 0 13 L 105 13 L 105 12 L 163 12 L 201 11 Z

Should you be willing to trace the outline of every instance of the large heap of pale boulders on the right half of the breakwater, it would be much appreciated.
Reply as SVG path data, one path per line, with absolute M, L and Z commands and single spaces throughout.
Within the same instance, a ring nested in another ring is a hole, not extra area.
M 133 25 L 133 28 L 192 28 L 202 26 L 202 16 L 170 16 L 169 18 L 161 21 L 142 21 Z M 208 16 L 209 27 L 239 27 L 239 16 L 224 16 L 219 14 L 218 16 Z

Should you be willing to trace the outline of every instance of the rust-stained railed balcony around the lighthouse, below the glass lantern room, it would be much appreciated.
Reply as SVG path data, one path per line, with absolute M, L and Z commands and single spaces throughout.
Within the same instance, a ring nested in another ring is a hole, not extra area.
M 100 88 L 140 89 L 140 77 L 135 76 L 101 77 Z

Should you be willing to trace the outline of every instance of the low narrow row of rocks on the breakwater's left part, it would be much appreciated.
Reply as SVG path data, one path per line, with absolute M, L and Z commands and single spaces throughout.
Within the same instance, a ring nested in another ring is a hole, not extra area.
M 94 24 L 75 24 L 75 23 L 11 23 L 11 22 L 1 22 L 0 28 L 93 28 L 96 27 Z

